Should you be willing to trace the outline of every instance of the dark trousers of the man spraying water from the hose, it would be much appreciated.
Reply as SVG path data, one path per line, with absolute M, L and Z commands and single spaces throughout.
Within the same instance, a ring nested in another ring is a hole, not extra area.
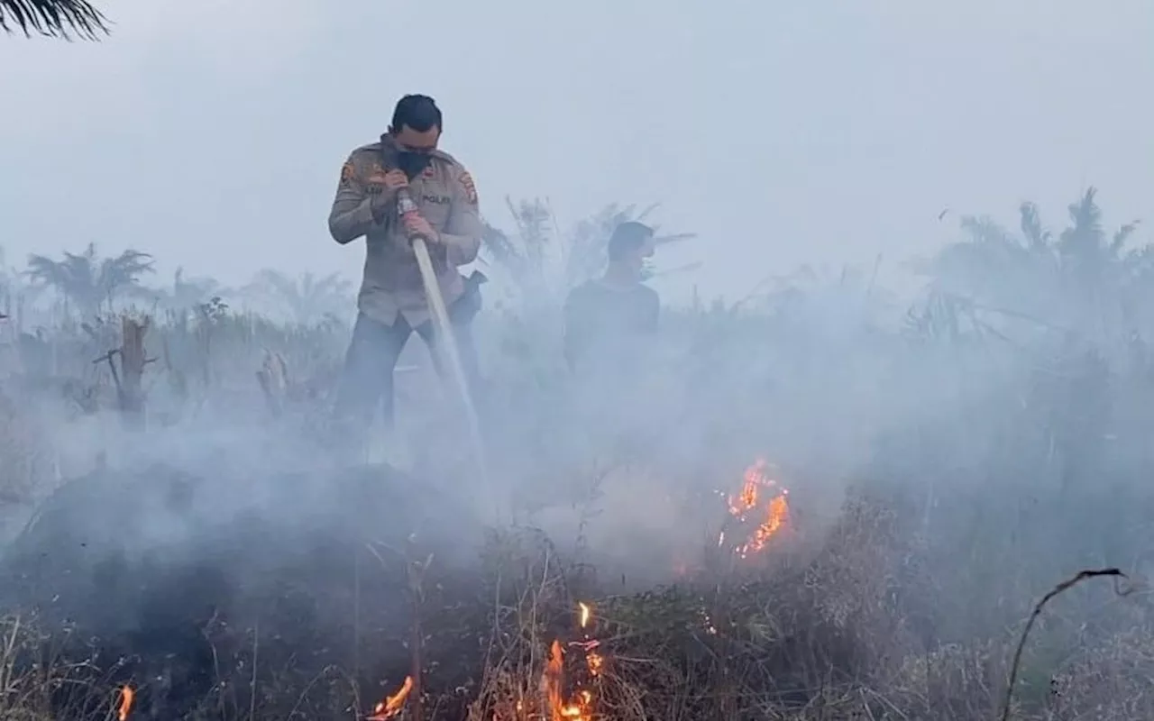
M 457 351 L 460 353 L 465 382 L 470 392 L 475 392 L 479 388 L 479 374 L 477 347 L 473 345 L 471 329 L 474 314 L 471 310 L 467 299 L 458 300 L 448 308 L 449 323 L 457 341 Z M 362 427 L 367 427 L 373 421 L 377 405 L 383 400 L 385 427 L 392 427 L 392 374 L 397 367 L 397 359 L 400 358 L 400 352 L 413 331 L 429 347 L 434 368 L 442 378 L 445 378 L 447 369 L 443 367 L 432 321 L 412 328 L 404 316 L 398 315 L 392 325 L 385 325 L 365 314 L 358 314 L 353 338 L 345 355 L 344 376 L 337 392 L 337 418 L 359 421 L 364 423 Z

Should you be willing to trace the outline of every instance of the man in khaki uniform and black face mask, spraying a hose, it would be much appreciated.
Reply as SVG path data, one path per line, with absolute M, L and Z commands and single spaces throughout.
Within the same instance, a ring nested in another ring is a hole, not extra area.
M 349 156 L 332 201 L 334 240 L 345 245 L 365 236 L 365 279 L 336 407 L 338 418 L 362 421 L 362 427 L 372 422 L 382 396 L 384 421 L 391 426 L 392 374 L 413 331 L 429 345 L 434 360 L 439 358 L 412 238 L 426 239 L 466 380 L 477 388 L 470 324 L 480 308 L 477 286 L 484 276 L 465 279 L 457 269 L 477 258 L 482 225 L 473 179 L 437 149 L 441 128 L 441 110 L 433 98 L 403 97 L 381 141 Z M 398 217 L 400 188 L 409 189 L 420 217 L 410 221 Z

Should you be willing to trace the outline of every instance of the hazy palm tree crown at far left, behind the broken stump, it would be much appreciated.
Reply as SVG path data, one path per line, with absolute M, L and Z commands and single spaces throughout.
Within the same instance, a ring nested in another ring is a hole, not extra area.
M 65 251 L 60 261 L 30 255 L 25 275 L 37 286 L 55 288 L 77 310 L 90 316 L 98 314 L 105 303 L 111 311 L 118 293 L 138 288 L 141 277 L 153 270 L 148 253 L 128 249 L 102 258 L 96 243 L 89 243 L 84 253 Z

